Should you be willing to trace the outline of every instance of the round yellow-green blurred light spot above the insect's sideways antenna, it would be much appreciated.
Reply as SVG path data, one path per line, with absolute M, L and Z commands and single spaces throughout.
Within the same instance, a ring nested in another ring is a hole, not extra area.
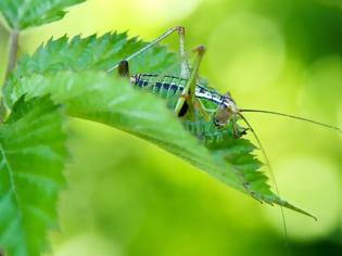
M 235 90 L 251 91 L 274 82 L 283 66 L 286 46 L 275 24 L 255 14 L 237 14 L 212 34 L 211 71 Z

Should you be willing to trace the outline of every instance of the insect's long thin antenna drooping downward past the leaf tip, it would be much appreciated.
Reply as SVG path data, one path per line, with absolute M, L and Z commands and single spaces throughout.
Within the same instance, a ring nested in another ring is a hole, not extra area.
M 241 110 L 240 110 L 241 112 Z M 273 170 L 273 167 L 270 165 L 269 158 L 266 154 L 266 151 L 262 144 L 262 141 L 258 139 L 258 136 L 256 135 L 255 130 L 253 129 L 252 125 L 248 121 L 248 119 L 241 114 L 238 113 L 238 115 L 241 117 L 241 119 L 245 123 L 245 125 L 249 127 L 249 129 L 252 131 L 252 135 L 254 137 L 254 139 L 256 140 L 256 143 L 259 148 L 259 150 L 262 151 L 262 154 L 266 161 L 266 165 L 268 166 L 269 172 L 270 172 L 270 178 L 275 184 L 275 189 L 276 189 L 276 193 L 277 196 L 280 197 L 280 193 L 279 193 L 279 189 L 278 189 L 278 184 L 276 182 L 276 177 Z M 286 221 L 286 217 L 284 217 L 284 213 L 283 213 L 283 207 L 280 205 L 280 212 L 281 212 L 281 219 L 282 219 L 282 225 L 283 225 L 283 232 L 284 232 L 284 236 L 286 236 L 286 248 L 288 251 L 288 253 L 290 253 L 290 246 L 289 246 L 289 236 L 288 236 L 288 226 L 287 226 L 287 221 Z

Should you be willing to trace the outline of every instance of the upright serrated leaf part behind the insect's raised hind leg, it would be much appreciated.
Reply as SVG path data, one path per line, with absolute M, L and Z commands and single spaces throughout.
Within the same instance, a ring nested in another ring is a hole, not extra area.
M 119 63 L 129 54 L 141 49 L 145 42 L 138 38 L 128 38 L 127 33 L 109 33 L 101 37 L 96 35 L 87 38 L 76 36 L 73 39 L 66 36 L 56 40 L 49 40 L 39 47 L 29 56 L 25 54 L 18 61 L 16 69 L 12 73 L 7 88 L 11 91 L 11 86 L 15 80 L 31 74 L 53 74 L 60 71 L 107 71 Z M 165 47 L 154 47 L 140 56 L 131 60 L 130 72 L 160 73 L 165 67 L 173 66 L 177 56 L 168 52 Z

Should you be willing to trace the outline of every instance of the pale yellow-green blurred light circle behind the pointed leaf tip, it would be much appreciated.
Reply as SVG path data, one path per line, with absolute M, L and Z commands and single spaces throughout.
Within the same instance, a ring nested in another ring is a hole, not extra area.
M 309 217 L 292 210 L 286 210 L 290 238 L 312 240 L 329 234 L 339 221 L 339 179 L 338 168 L 326 159 L 317 157 L 292 157 L 276 165 L 277 182 L 283 199 L 303 208 L 318 218 L 316 222 Z M 278 223 L 279 210 L 267 209 L 273 223 Z

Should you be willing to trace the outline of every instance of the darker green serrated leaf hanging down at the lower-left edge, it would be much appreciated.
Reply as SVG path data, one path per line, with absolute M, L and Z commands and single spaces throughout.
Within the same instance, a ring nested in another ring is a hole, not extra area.
M 24 97 L 0 128 L 0 247 L 39 255 L 56 227 L 56 197 L 66 157 L 63 113 L 48 97 Z

